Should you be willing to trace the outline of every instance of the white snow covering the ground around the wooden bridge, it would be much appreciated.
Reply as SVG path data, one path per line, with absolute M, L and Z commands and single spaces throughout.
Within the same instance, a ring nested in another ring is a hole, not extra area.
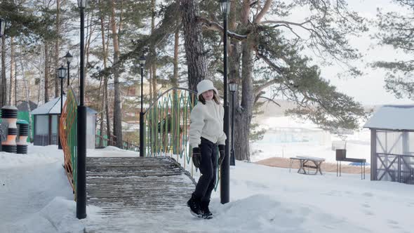
M 288 128 L 287 123 L 282 122 L 279 128 Z M 301 125 L 293 128 L 307 128 L 306 132 L 312 129 Z M 314 136 L 298 132 L 293 138 L 305 135 L 302 138 L 307 142 L 298 142 L 299 139 L 281 142 L 285 143 L 284 157 L 300 153 L 334 157 L 331 142 L 337 139 L 333 135 L 324 135 L 316 129 Z M 348 142 L 347 149 L 352 152 L 353 148 L 361 157 L 366 153 L 369 156 L 369 145 L 362 143 L 369 142 L 368 136 L 364 132 L 352 135 L 356 142 Z M 312 138 L 320 138 L 321 142 Z M 255 155 L 255 160 L 275 156 L 282 148 L 278 144 L 266 136 L 262 142 L 256 142 L 252 147 L 262 152 Z M 88 149 L 88 156 L 100 156 L 104 152 L 138 156 L 114 147 Z M 100 218 L 94 206 L 88 206 L 85 220 L 76 219 L 76 204 L 62 161 L 62 151 L 57 146 L 30 145 L 27 155 L 0 152 L 1 233 L 84 232 L 91 222 L 107 222 Z M 125 232 L 408 233 L 414 229 L 414 185 L 371 182 L 369 176 L 360 180 L 359 174 L 343 174 L 341 178 L 335 173 L 301 175 L 289 173 L 285 168 L 241 161 L 231 168 L 230 178 L 228 204 L 220 204 L 220 187 L 213 193 L 211 211 L 215 218 L 212 220 L 196 219 L 187 211 L 174 215 L 131 214 L 123 219 Z

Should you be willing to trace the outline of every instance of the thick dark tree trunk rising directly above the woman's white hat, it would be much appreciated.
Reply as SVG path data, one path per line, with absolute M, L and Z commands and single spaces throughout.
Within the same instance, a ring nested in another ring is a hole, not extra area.
M 199 81 L 206 79 L 207 63 L 203 51 L 203 33 L 197 23 L 199 3 L 194 0 L 180 0 L 184 46 L 187 56 L 188 87 L 196 91 Z

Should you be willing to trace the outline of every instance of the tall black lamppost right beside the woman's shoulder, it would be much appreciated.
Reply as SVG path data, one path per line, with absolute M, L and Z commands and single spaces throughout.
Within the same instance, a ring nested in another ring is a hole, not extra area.
M 220 182 L 220 202 L 226 204 L 230 201 L 230 164 L 229 164 L 229 102 L 227 100 L 227 16 L 230 11 L 229 0 L 220 0 L 221 11 L 223 16 L 223 44 L 224 44 L 224 89 L 225 89 L 225 119 L 223 124 L 223 131 L 227 139 L 225 142 L 225 160 L 221 165 L 221 182 Z

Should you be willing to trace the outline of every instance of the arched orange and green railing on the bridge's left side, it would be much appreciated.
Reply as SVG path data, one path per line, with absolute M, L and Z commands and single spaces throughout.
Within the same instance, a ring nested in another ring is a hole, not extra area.
M 77 109 L 78 102 L 72 88 L 67 92 L 67 99 L 60 116 L 59 136 L 65 154 L 65 171 L 67 179 L 76 194 L 76 157 L 77 157 Z M 76 197 L 75 197 L 76 200 Z

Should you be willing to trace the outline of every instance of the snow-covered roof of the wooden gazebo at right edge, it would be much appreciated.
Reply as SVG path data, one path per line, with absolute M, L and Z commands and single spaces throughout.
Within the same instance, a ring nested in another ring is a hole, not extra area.
M 393 131 L 414 131 L 414 105 L 384 105 L 366 122 L 363 128 Z

